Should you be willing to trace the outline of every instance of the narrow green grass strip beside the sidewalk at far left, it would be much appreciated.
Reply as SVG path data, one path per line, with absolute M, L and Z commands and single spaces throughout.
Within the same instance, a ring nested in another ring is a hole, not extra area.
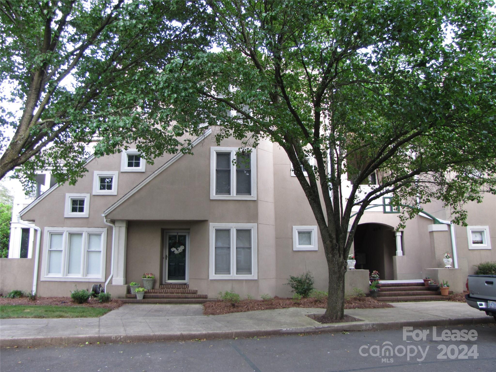
M 95 318 L 112 309 L 86 306 L 2 305 L 0 319 L 6 318 Z

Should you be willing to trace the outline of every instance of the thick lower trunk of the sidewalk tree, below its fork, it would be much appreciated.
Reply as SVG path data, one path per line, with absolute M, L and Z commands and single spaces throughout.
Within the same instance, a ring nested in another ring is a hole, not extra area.
M 344 275 L 346 274 L 346 265 L 338 254 L 332 254 L 327 258 L 327 269 L 329 273 L 329 295 L 324 317 L 332 320 L 342 319 L 344 316 Z

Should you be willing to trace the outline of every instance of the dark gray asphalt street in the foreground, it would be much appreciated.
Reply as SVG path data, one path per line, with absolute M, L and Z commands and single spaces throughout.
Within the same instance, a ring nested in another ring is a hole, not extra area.
M 390 348 L 388 348 L 390 347 Z M 7 371 L 495 371 L 496 324 L 1 348 Z

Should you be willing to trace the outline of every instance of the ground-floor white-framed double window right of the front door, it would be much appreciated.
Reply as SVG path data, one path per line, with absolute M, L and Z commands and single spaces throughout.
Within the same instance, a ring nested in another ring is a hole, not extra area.
M 209 279 L 257 279 L 256 224 L 210 224 Z

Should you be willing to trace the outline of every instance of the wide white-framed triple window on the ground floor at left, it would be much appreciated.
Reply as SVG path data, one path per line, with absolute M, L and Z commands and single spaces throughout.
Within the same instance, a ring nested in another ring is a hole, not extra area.
M 104 281 L 106 247 L 106 228 L 45 228 L 41 280 Z

